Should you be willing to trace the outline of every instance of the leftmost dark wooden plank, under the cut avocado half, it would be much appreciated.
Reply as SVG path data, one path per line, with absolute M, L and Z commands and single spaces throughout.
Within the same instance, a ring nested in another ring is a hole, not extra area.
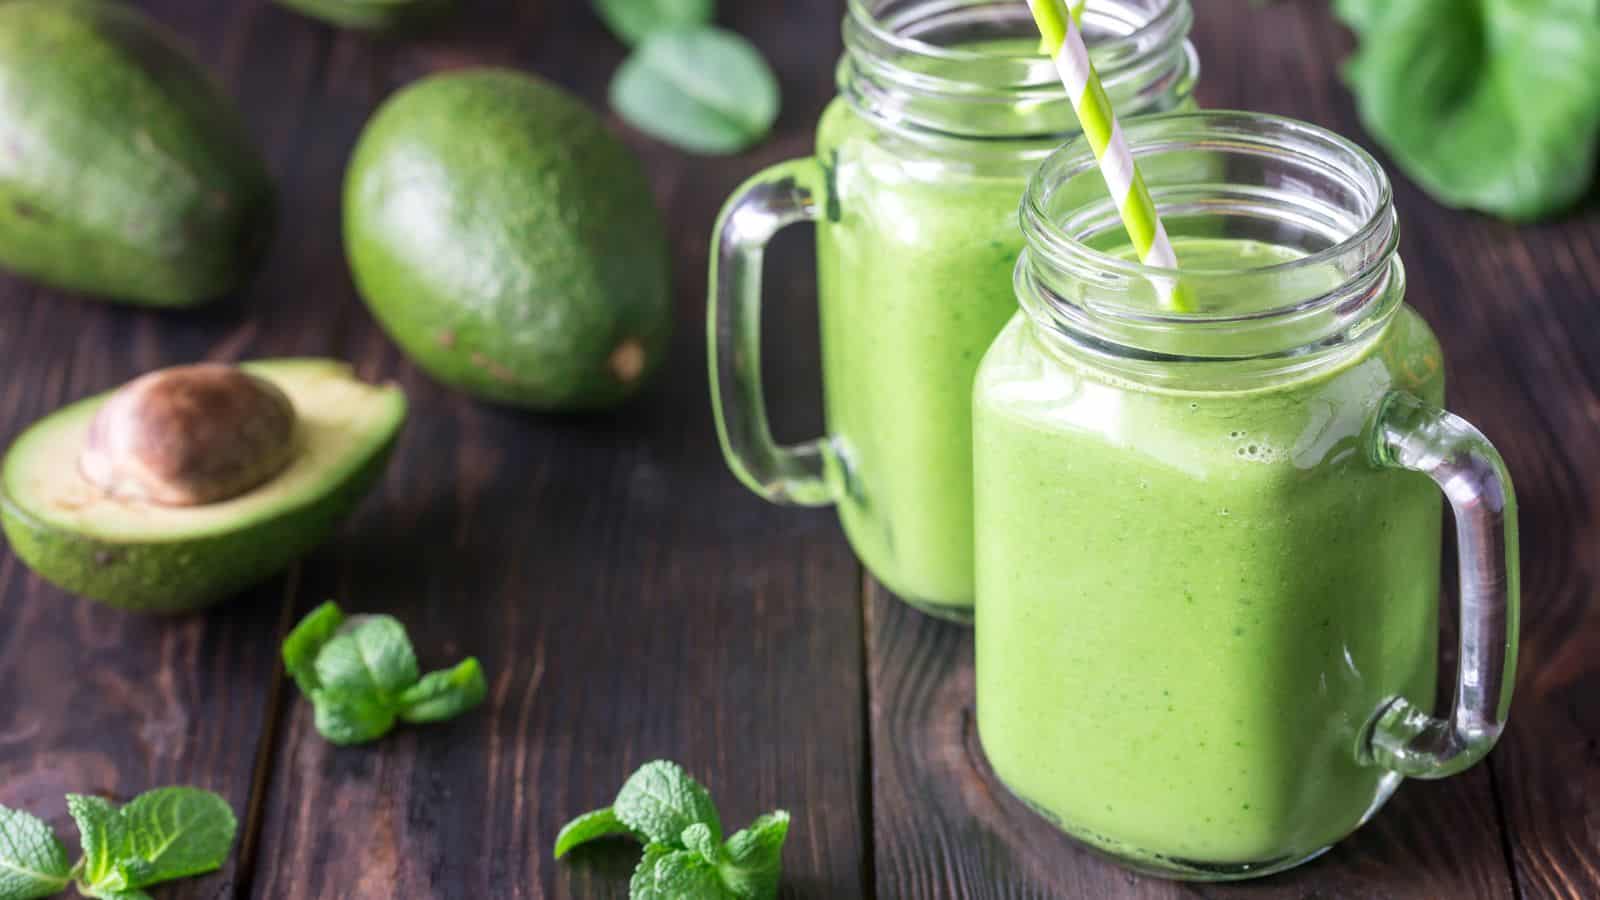
M 293 170 L 275 117 L 294 117 L 317 48 L 246 34 L 251 8 L 179 0 L 142 3 L 243 94 L 269 162 Z M 237 77 L 238 53 L 270 53 L 275 93 Z M 291 203 L 293 208 L 293 203 Z M 0 279 L 0 440 L 66 400 L 141 372 L 195 359 L 326 352 L 318 328 L 269 330 L 282 285 L 299 264 L 278 242 L 238 296 L 205 311 L 149 312 Z M 314 311 L 302 301 L 304 311 Z M 221 873 L 163 887 L 163 897 L 230 895 L 248 879 L 251 798 L 277 692 L 277 633 L 294 578 L 274 580 L 206 613 L 147 618 L 69 597 L 0 551 L 0 804 L 74 828 L 62 794 L 126 799 L 186 783 L 222 793 L 243 836 Z

